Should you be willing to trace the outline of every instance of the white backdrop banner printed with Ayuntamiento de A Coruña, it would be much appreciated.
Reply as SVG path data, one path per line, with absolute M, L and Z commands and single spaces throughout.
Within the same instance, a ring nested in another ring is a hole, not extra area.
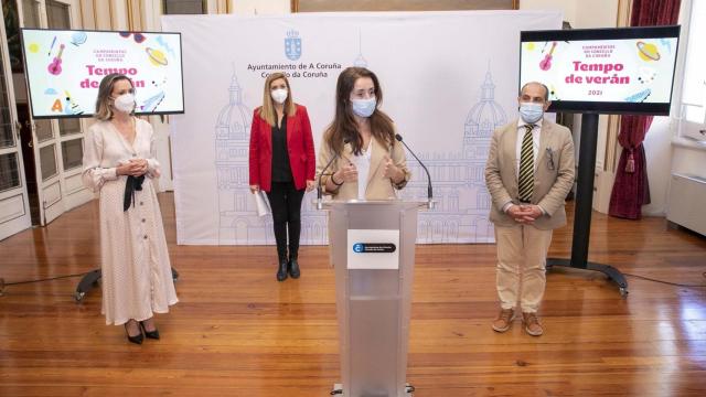
M 181 32 L 185 114 L 172 116 L 179 244 L 275 244 L 271 216 L 248 191 L 253 109 L 282 71 L 307 106 L 317 150 L 347 66 L 377 74 L 382 109 L 431 172 L 437 210 L 419 215 L 419 243 L 492 243 L 483 169 L 493 130 L 516 117 L 520 32 L 559 29 L 559 12 L 169 15 Z M 406 198 L 426 198 L 411 155 Z M 327 215 L 304 196 L 301 243 L 328 244 Z

